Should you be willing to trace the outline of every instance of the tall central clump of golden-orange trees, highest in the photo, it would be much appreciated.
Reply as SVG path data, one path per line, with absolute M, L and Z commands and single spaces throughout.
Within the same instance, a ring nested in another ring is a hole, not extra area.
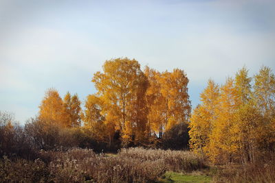
M 188 78 L 180 69 L 159 73 L 147 66 L 142 72 L 136 60 L 117 58 L 107 60 L 92 82 L 98 92 L 87 98 L 83 121 L 104 126 L 109 145 L 115 132 L 124 145 L 146 145 L 153 134 L 162 138 L 190 117 Z

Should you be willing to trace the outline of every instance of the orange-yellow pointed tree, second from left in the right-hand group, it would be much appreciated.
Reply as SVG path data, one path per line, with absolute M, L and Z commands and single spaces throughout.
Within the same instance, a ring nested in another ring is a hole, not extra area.
M 213 162 L 221 163 L 232 161 L 233 154 L 238 150 L 234 114 L 240 106 L 240 101 L 232 78 L 228 78 L 221 86 L 218 101 L 219 108 L 215 110 L 216 118 L 212 123 L 212 132 L 209 137 L 208 156 Z

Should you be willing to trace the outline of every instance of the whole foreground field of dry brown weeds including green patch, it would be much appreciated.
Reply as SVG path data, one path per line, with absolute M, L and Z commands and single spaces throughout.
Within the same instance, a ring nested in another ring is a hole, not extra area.
M 207 166 L 190 151 L 121 149 L 96 154 L 90 149 L 40 151 L 36 160 L 0 160 L 0 182 L 274 182 L 274 162 L 240 167 Z

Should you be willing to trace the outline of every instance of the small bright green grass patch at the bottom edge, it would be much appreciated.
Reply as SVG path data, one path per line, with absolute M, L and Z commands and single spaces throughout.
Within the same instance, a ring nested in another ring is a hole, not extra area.
M 184 173 L 176 173 L 168 171 L 159 179 L 158 183 L 168 182 L 192 182 L 192 183 L 208 183 L 211 182 L 209 175 L 188 175 Z

